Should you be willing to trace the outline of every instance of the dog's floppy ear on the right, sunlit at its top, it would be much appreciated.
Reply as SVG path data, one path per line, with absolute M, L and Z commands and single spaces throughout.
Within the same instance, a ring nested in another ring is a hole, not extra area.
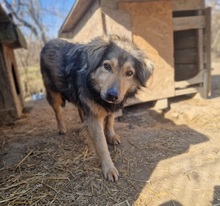
M 153 72 L 154 64 L 148 57 L 144 57 L 141 61 L 137 60 L 136 67 L 136 78 L 142 87 L 146 87 L 146 82 Z

